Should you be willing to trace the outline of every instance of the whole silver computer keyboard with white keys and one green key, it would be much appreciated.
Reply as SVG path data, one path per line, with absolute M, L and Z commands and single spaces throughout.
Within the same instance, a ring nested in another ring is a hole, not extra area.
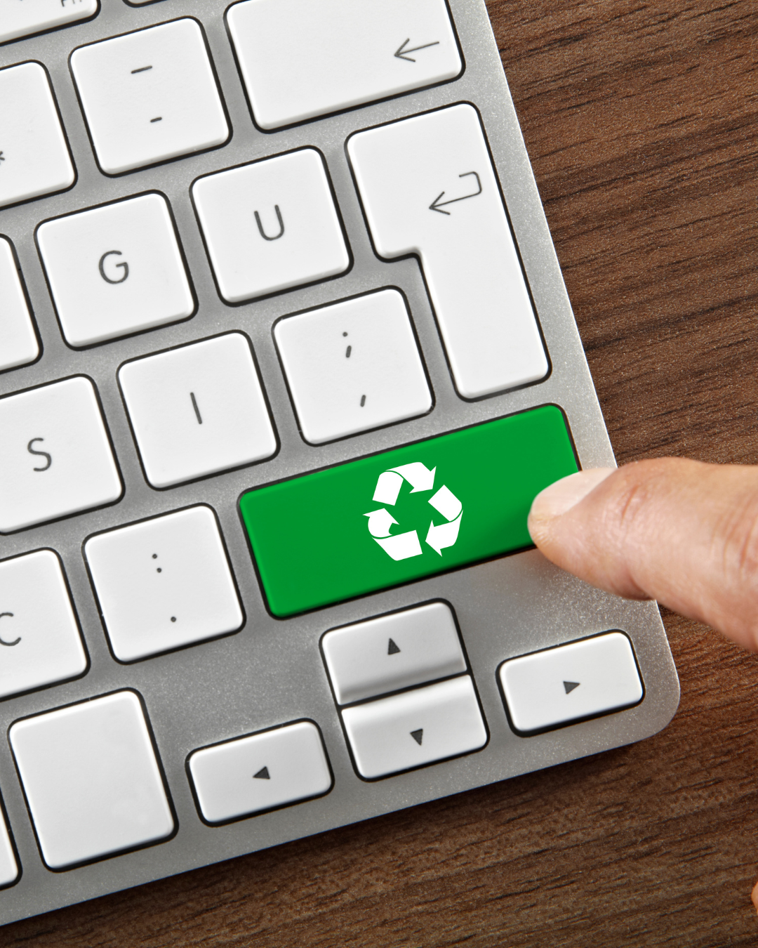
M 479 0 L 0 0 L 0 921 L 645 738 Z

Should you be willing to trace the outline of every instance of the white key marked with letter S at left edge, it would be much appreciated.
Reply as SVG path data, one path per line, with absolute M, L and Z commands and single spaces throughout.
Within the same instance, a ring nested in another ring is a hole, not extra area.
M 0 398 L 0 533 L 121 496 L 95 386 L 83 375 Z

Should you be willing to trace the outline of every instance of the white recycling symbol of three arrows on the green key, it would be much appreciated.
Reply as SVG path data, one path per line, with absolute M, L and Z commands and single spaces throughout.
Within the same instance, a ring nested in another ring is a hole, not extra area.
M 428 467 L 418 461 L 414 461 L 410 465 L 391 467 L 379 475 L 371 500 L 374 503 L 385 503 L 388 507 L 393 506 L 397 502 L 404 480 L 413 488 L 411 494 L 434 490 L 434 475 L 436 472 L 436 467 L 429 470 Z M 447 520 L 446 523 L 440 523 L 437 526 L 435 526 L 434 520 L 431 520 L 425 539 L 432 550 L 442 556 L 442 550 L 448 546 L 453 546 L 458 539 L 463 505 L 444 484 L 436 493 L 432 494 L 428 502 Z M 406 533 L 390 536 L 389 529 L 397 523 L 397 520 L 389 513 L 387 507 L 371 510 L 363 516 L 369 518 L 371 537 L 392 559 L 410 559 L 411 556 L 423 556 L 424 550 L 421 548 L 419 535 L 415 530 L 408 530 Z

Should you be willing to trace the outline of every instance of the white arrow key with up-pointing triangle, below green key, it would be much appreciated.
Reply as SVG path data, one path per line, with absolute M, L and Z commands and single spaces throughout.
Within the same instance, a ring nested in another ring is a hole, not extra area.
M 321 648 L 338 704 L 466 670 L 453 613 L 443 602 L 332 629 Z

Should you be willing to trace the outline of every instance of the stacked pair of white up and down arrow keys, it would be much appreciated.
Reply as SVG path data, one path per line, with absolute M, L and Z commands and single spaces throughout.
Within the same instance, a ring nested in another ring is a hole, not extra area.
M 487 742 L 447 603 L 331 629 L 321 649 L 355 769 L 366 779 L 469 754 Z

